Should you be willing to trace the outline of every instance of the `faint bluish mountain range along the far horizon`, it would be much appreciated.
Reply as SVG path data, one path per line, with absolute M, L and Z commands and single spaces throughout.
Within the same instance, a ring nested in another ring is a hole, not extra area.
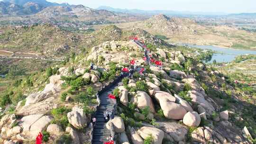
M 122 12 L 128 14 L 158 15 L 165 14 L 169 16 L 192 16 L 192 15 L 227 15 L 222 12 L 191 12 L 191 11 L 173 11 L 173 10 L 141 10 L 141 9 L 115 9 L 108 6 L 101 6 L 97 9 L 105 9 L 114 12 Z

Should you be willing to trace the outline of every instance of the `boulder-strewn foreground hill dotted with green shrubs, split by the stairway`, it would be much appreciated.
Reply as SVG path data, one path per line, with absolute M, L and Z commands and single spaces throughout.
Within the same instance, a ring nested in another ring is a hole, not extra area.
M 111 28 L 122 36 L 120 29 Z M 136 60 L 145 72 L 122 79 L 112 91 L 115 116 L 103 123 L 117 144 L 252 143 L 256 107 L 240 99 L 228 77 L 183 47 L 165 45 L 140 29 L 130 33 L 141 35 L 152 58 L 163 61 L 162 68 L 146 65 L 143 50 L 131 40 L 106 41 L 87 53 L 72 54 L 64 63 L 18 82 L 2 98 L 9 100 L 1 100 L 1 142 L 33 142 L 40 131 L 49 144 L 94 142 L 91 136 L 97 136 L 90 123 L 101 108 L 97 91 Z M 95 63 L 93 70 L 90 62 Z

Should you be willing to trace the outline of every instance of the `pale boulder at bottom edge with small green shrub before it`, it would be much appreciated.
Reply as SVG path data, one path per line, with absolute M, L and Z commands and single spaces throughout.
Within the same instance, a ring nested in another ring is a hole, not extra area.
M 137 133 L 143 138 L 146 139 L 148 136 L 152 135 L 154 138 L 154 144 L 162 144 L 165 133 L 155 127 L 143 126 Z

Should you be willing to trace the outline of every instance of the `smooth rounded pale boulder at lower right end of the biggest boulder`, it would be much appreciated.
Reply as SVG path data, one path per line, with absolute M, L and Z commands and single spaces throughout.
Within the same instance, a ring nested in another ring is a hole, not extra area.
M 201 117 L 195 111 L 193 111 L 193 112 L 189 111 L 183 117 L 183 124 L 186 126 L 199 126 L 200 122 L 201 122 Z

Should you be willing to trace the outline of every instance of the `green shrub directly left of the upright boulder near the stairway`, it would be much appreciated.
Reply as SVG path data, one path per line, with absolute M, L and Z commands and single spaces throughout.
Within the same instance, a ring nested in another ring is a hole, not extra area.
M 52 124 L 57 124 L 62 126 L 62 128 L 66 128 L 69 125 L 67 113 L 70 112 L 71 109 L 65 107 L 55 108 L 51 111 L 54 119 L 52 120 Z

